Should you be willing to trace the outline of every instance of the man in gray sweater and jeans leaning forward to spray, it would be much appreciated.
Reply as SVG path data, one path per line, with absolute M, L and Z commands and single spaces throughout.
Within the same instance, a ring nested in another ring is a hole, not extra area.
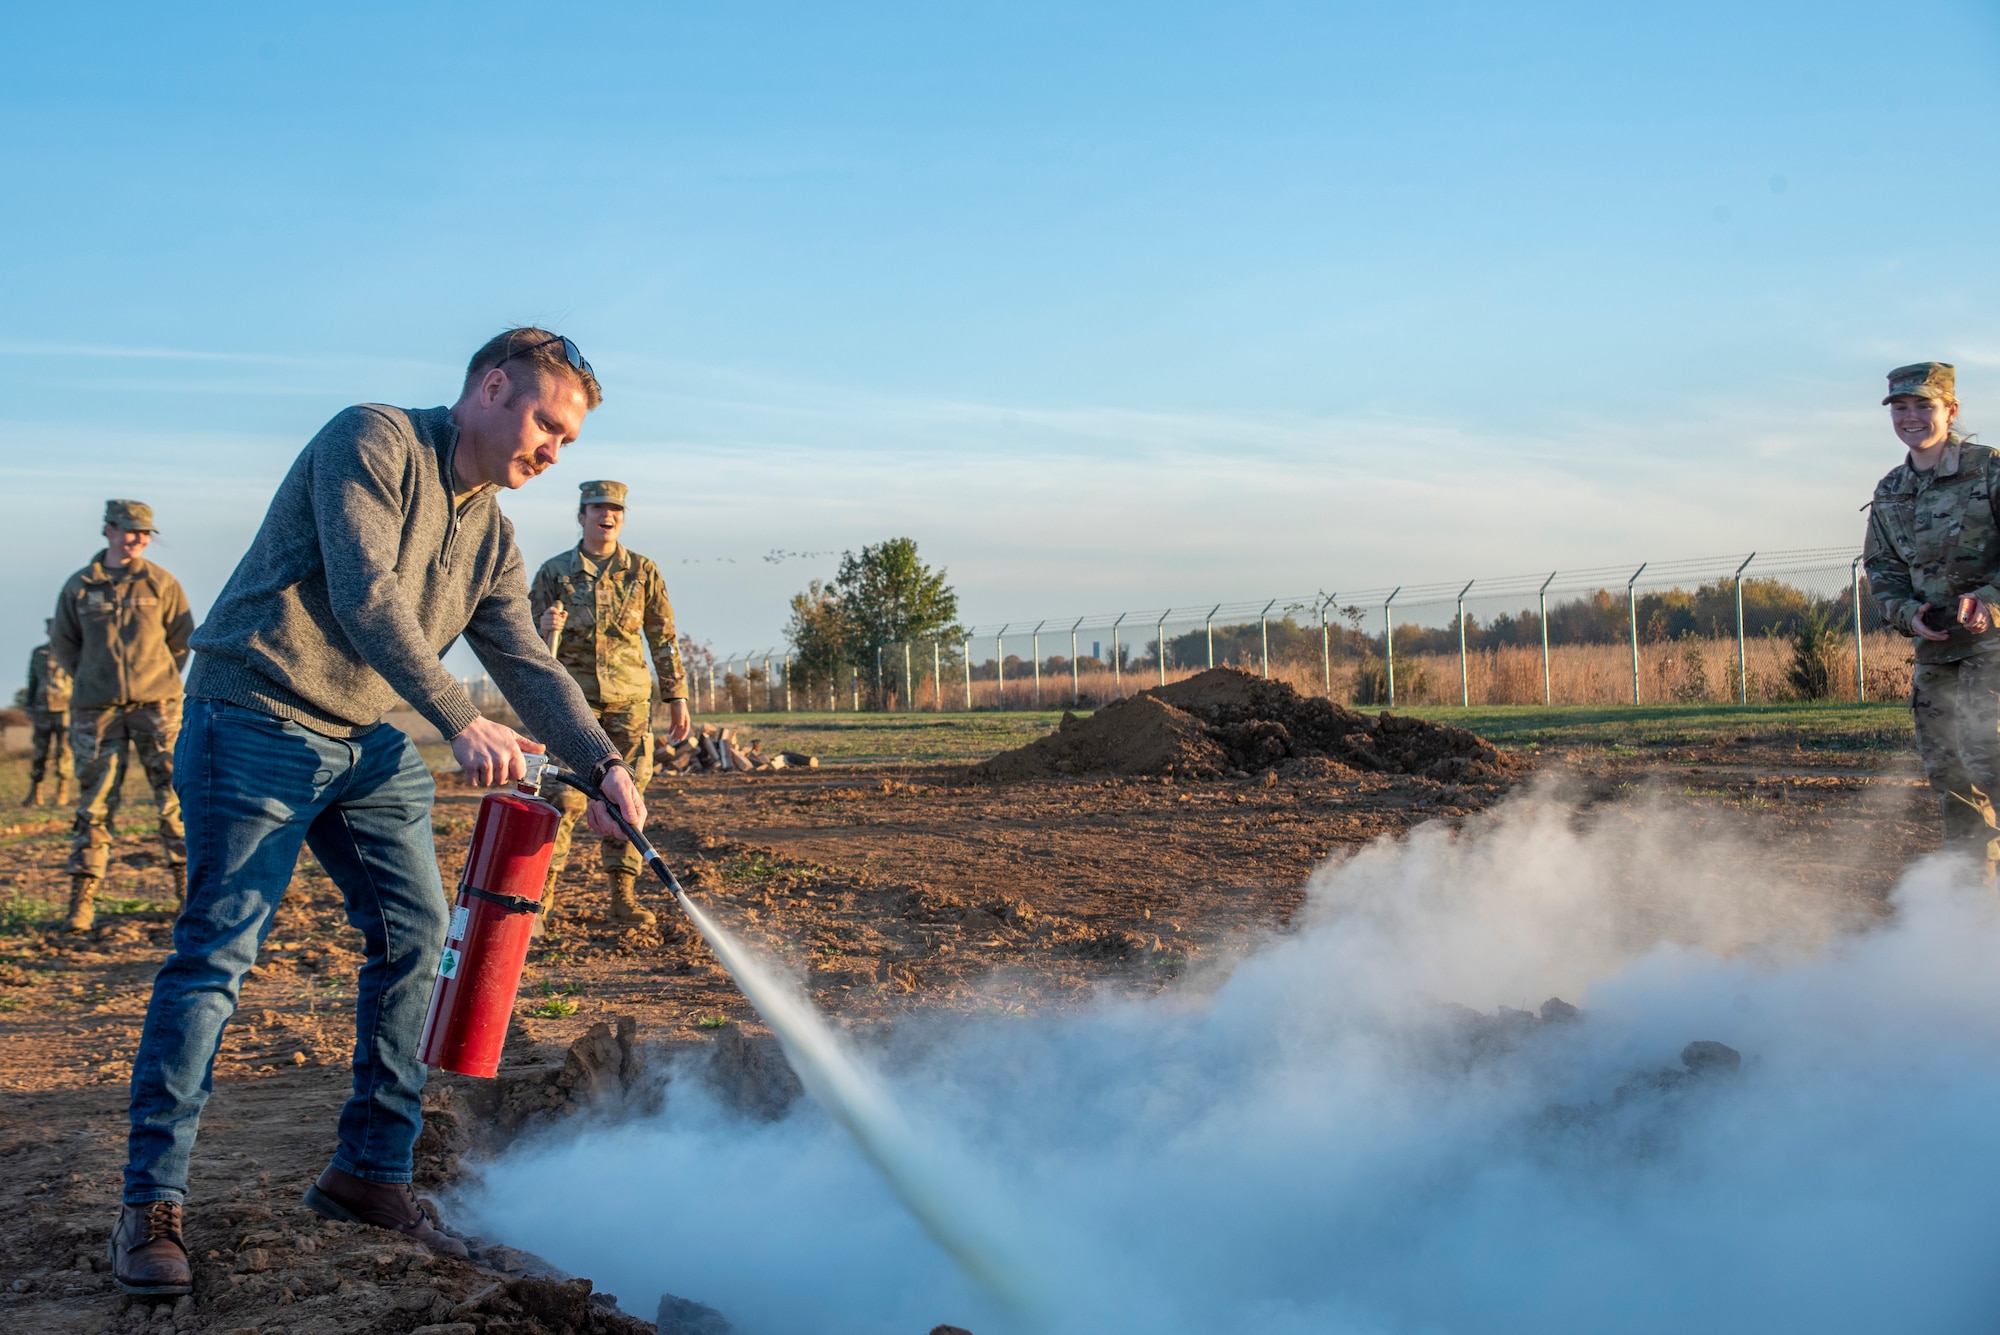
M 174 773 L 188 903 L 132 1063 L 124 1209 L 110 1247 L 128 1293 L 192 1287 L 180 1211 L 196 1125 L 222 1025 L 302 843 L 340 887 L 366 949 L 354 1095 L 306 1203 L 464 1255 L 410 1193 L 424 1089 L 416 1047 L 448 903 L 430 771 L 382 713 L 406 699 L 450 739 L 472 783 L 522 777 L 522 749 L 542 747 L 482 717 L 438 662 L 464 636 L 534 735 L 644 823 L 618 749 L 536 634 L 496 502 L 500 488 L 554 466 L 600 400 L 576 344 L 518 328 L 472 356 L 452 408 L 348 408 L 292 464 L 194 634 Z M 586 819 L 618 833 L 602 803 Z

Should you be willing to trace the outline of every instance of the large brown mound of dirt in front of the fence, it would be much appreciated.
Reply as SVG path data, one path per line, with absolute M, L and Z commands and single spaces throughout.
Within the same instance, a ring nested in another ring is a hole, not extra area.
M 1220 777 L 1282 767 L 1296 777 L 1406 773 L 1442 783 L 1498 781 L 1520 761 L 1478 733 L 1344 709 L 1236 668 L 1118 699 L 1024 747 L 974 765 L 982 779 L 1062 773 Z

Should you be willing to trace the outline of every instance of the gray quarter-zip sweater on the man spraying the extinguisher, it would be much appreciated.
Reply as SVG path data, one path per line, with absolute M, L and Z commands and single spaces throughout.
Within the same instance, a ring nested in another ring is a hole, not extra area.
M 362 404 L 320 428 L 194 632 L 188 695 L 332 737 L 400 695 L 456 737 L 478 709 L 438 658 L 464 636 L 558 759 L 590 769 L 616 753 L 534 632 L 498 488 L 454 512 L 456 446 L 448 408 Z

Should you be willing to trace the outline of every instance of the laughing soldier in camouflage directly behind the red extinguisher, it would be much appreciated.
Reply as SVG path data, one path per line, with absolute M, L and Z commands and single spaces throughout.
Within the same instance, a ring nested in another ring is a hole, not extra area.
M 688 735 L 688 673 L 680 664 L 674 634 L 674 606 L 658 566 L 618 542 L 624 528 L 626 486 L 586 482 L 580 488 L 576 522 L 584 536 L 562 556 L 552 556 L 528 586 L 536 626 L 554 646 L 560 662 L 584 689 L 584 699 L 618 747 L 640 791 L 652 777 L 652 677 L 646 658 L 660 673 L 660 697 L 668 707 L 674 741 Z M 540 921 L 554 911 L 556 877 L 570 857 L 570 831 L 584 813 L 582 793 L 562 789 L 562 823 L 556 853 L 548 863 L 548 883 Z M 598 849 L 604 875 L 612 883 L 612 921 L 652 925 L 654 915 L 638 905 L 634 881 L 640 859 L 624 839 L 604 839 Z

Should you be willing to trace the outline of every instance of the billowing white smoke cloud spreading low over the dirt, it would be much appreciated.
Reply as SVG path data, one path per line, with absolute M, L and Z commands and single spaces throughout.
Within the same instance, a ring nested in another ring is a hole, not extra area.
M 1864 921 L 1786 861 L 1530 795 L 1322 867 L 1296 931 L 1176 995 L 906 1025 L 876 1063 L 1010 1195 L 1026 1317 L 818 1109 L 692 1079 L 516 1147 L 474 1217 L 744 1335 L 1990 1329 L 2000 901 L 1932 859 Z M 1584 1015 L 1492 1017 L 1550 995 Z M 1688 1075 L 1690 1039 L 1742 1069 Z

